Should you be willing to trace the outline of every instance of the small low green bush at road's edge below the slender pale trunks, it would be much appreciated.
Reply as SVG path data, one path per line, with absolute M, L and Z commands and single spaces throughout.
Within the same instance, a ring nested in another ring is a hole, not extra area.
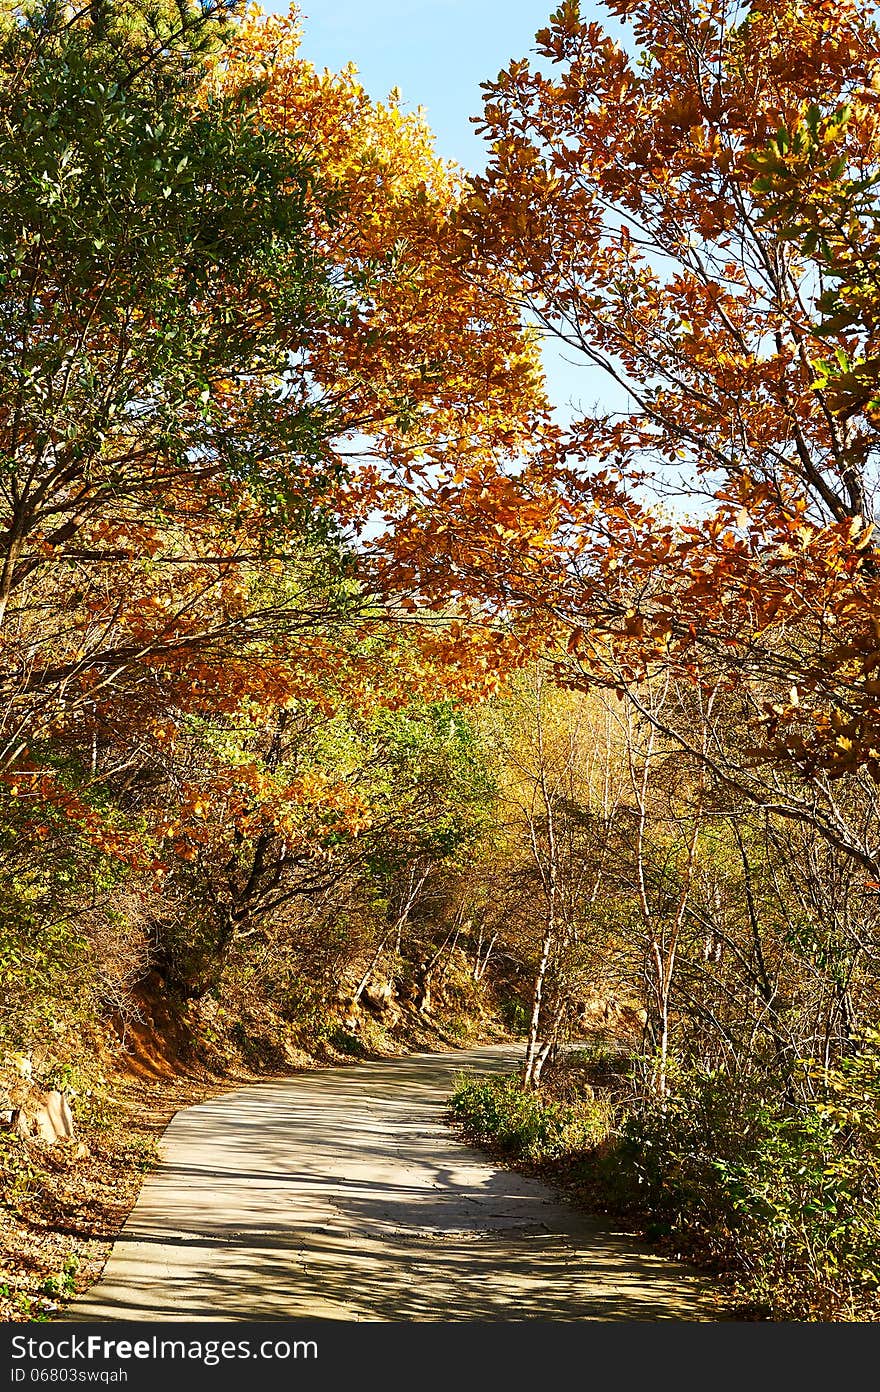
M 554 1160 L 590 1150 L 610 1130 L 602 1100 L 560 1102 L 524 1091 L 518 1077 L 461 1077 L 450 1100 L 453 1116 L 475 1141 L 517 1160 Z

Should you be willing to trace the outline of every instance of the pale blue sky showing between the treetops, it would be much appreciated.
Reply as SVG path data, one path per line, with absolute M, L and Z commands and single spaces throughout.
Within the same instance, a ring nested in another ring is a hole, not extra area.
M 535 33 L 558 0 L 301 0 L 302 54 L 319 68 L 354 63 L 375 99 L 397 86 L 405 107 L 425 107 L 437 153 L 465 168 L 482 168 L 486 146 L 469 117 L 482 110 L 480 82 L 511 58 L 531 54 Z M 267 14 L 285 14 L 287 0 L 262 0 Z M 585 15 L 607 24 L 599 4 Z M 611 29 L 620 29 L 611 21 Z M 546 65 L 546 60 L 543 60 Z M 611 394 L 610 383 L 554 342 L 544 345 L 551 401 L 563 418 L 569 402 L 590 409 Z M 615 394 L 620 402 L 620 394 Z

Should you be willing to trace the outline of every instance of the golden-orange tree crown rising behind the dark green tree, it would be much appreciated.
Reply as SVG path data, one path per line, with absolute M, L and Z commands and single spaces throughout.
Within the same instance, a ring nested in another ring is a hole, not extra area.
M 443 160 L 423 111 L 400 92 L 373 102 L 354 65 L 319 72 L 299 54 L 297 10 L 249 17 L 226 54 L 221 90 L 256 78 L 260 118 L 312 161 L 327 202 L 312 228 L 347 312 L 308 345 L 319 398 L 356 451 L 345 496 L 352 522 L 383 511 L 397 469 L 451 472 L 515 452 L 542 405 L 535 342 L 498 291 L 505 285 L 453 237 L 464 173 Z M 344 498 L 337 501 L 344 508 Z

